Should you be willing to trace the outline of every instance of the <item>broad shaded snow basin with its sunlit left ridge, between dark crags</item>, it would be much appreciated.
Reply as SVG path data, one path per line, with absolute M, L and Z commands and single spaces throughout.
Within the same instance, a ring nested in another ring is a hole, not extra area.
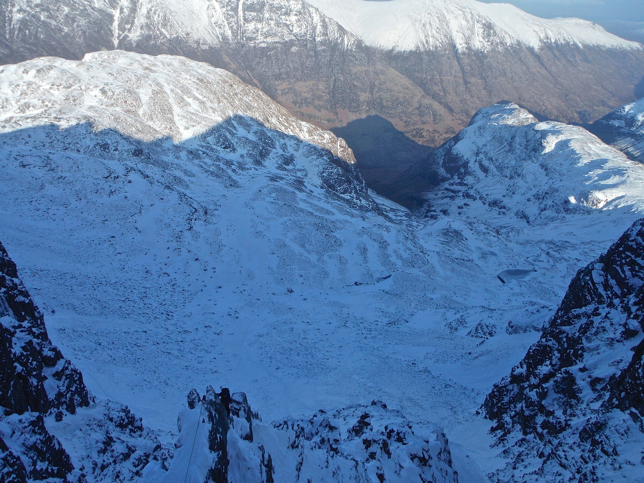
M 643 203 L 421 222 L 341 140 L 182 57 L 3 66 L 0 130 L 0 239 L 98 397 L 166 431 L 209 384 L 268 421 L 379 399 L 444 426 L 471 481 L 502 464 L 486 393 Z

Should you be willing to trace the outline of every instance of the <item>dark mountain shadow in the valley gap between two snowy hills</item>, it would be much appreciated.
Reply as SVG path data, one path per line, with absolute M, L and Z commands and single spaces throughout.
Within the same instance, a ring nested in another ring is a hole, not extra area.
M 405 207 L 415 207 L 395 180 L 427 158 L 433 147 L 418 144 L 379 115 L 356 119 L 330 131 L 343 138 L 354 151 L 368 187 Z

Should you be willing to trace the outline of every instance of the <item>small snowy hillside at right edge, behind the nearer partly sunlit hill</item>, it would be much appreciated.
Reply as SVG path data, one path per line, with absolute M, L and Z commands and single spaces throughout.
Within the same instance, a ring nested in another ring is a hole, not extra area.
M 644 162 L 644 99 L 615 109 L 588 129 L 630 159 Z

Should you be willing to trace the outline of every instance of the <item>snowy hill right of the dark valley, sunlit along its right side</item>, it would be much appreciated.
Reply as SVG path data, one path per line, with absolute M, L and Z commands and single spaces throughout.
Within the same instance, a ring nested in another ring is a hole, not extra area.
M 644 213 L 644 166 L 583 128 L 538 122 L 516 104 L 480 109 L 428 160 L 450 179 L 427 194 L 431 212 L 461 198 L 460 214 L 500 223 L 507 215 L 550 223 L 589 209 Z

